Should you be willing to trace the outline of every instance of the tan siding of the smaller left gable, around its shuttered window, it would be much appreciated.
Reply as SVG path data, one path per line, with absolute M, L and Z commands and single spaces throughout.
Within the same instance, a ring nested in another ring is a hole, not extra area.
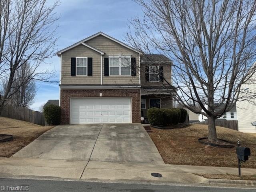
M 71 76 L 72 57 L 92 57 L 92 76 Z M 100 84 L 100 53 L 79 45 L 62 53 L 61 84 Z

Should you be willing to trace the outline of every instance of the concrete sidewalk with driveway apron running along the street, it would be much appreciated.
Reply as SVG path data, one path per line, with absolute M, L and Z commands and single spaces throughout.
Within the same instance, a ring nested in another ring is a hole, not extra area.
M 107 161 L 48 160 L 0 158 L 0 177 L 47 177 L 89 180 L 129 180 L 203 184 L 208 180 L 193 173 L 237 174 L 237 168 L 124 163 Z M 151 176 L 152 172 L 162 178 Z M 242 174 L 256 174 L 256 169 L 242 168 Z

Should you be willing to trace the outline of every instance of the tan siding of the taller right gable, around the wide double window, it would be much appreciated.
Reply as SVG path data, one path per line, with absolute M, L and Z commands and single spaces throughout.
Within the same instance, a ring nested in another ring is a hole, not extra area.
M 102 56 L 103 65 L 103 84 L 139 84 L 138 67 L 136 69 L 136 76 L 104 76 L 104 57 L 112 55 L 131 55 L 136 58 L 136 65 L 139 64 L 139 54 L 100 35 L 91 40 L 86 41 L 87 44 L 93 46 L 103 52 L 105 55 Z

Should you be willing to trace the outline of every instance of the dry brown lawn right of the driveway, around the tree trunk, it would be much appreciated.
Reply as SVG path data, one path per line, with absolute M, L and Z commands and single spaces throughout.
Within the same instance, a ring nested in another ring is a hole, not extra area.
M 256 168 L 256 138 L 250 134 L 228 128 L 217 127 L 218 138 L 251 149 L 249 161 L 243 168 Z M 184 164 L 198 166 L 237 167 L 236 148 L 208 147 L 198 142 L 198 138 L 207 137 L 208 126 L 192 124 L 185 128 L 162 130 L 152 128 L 150 137 L 156 144 L 166 164 Z

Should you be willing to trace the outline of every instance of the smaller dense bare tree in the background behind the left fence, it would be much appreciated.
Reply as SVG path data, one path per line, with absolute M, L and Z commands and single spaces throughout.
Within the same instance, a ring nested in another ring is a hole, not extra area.
M 31 74 L 30 64 L 24 63 L 14 74 L 14 79 L 9 94 L 10 102 L 14 106 L 28 107 L 34 103 L 36 96 L 36 82 L 34 79 L 26 82 L 26 78 Z M 8 85 L 6 80 L 4 84 L 4 90 Z

